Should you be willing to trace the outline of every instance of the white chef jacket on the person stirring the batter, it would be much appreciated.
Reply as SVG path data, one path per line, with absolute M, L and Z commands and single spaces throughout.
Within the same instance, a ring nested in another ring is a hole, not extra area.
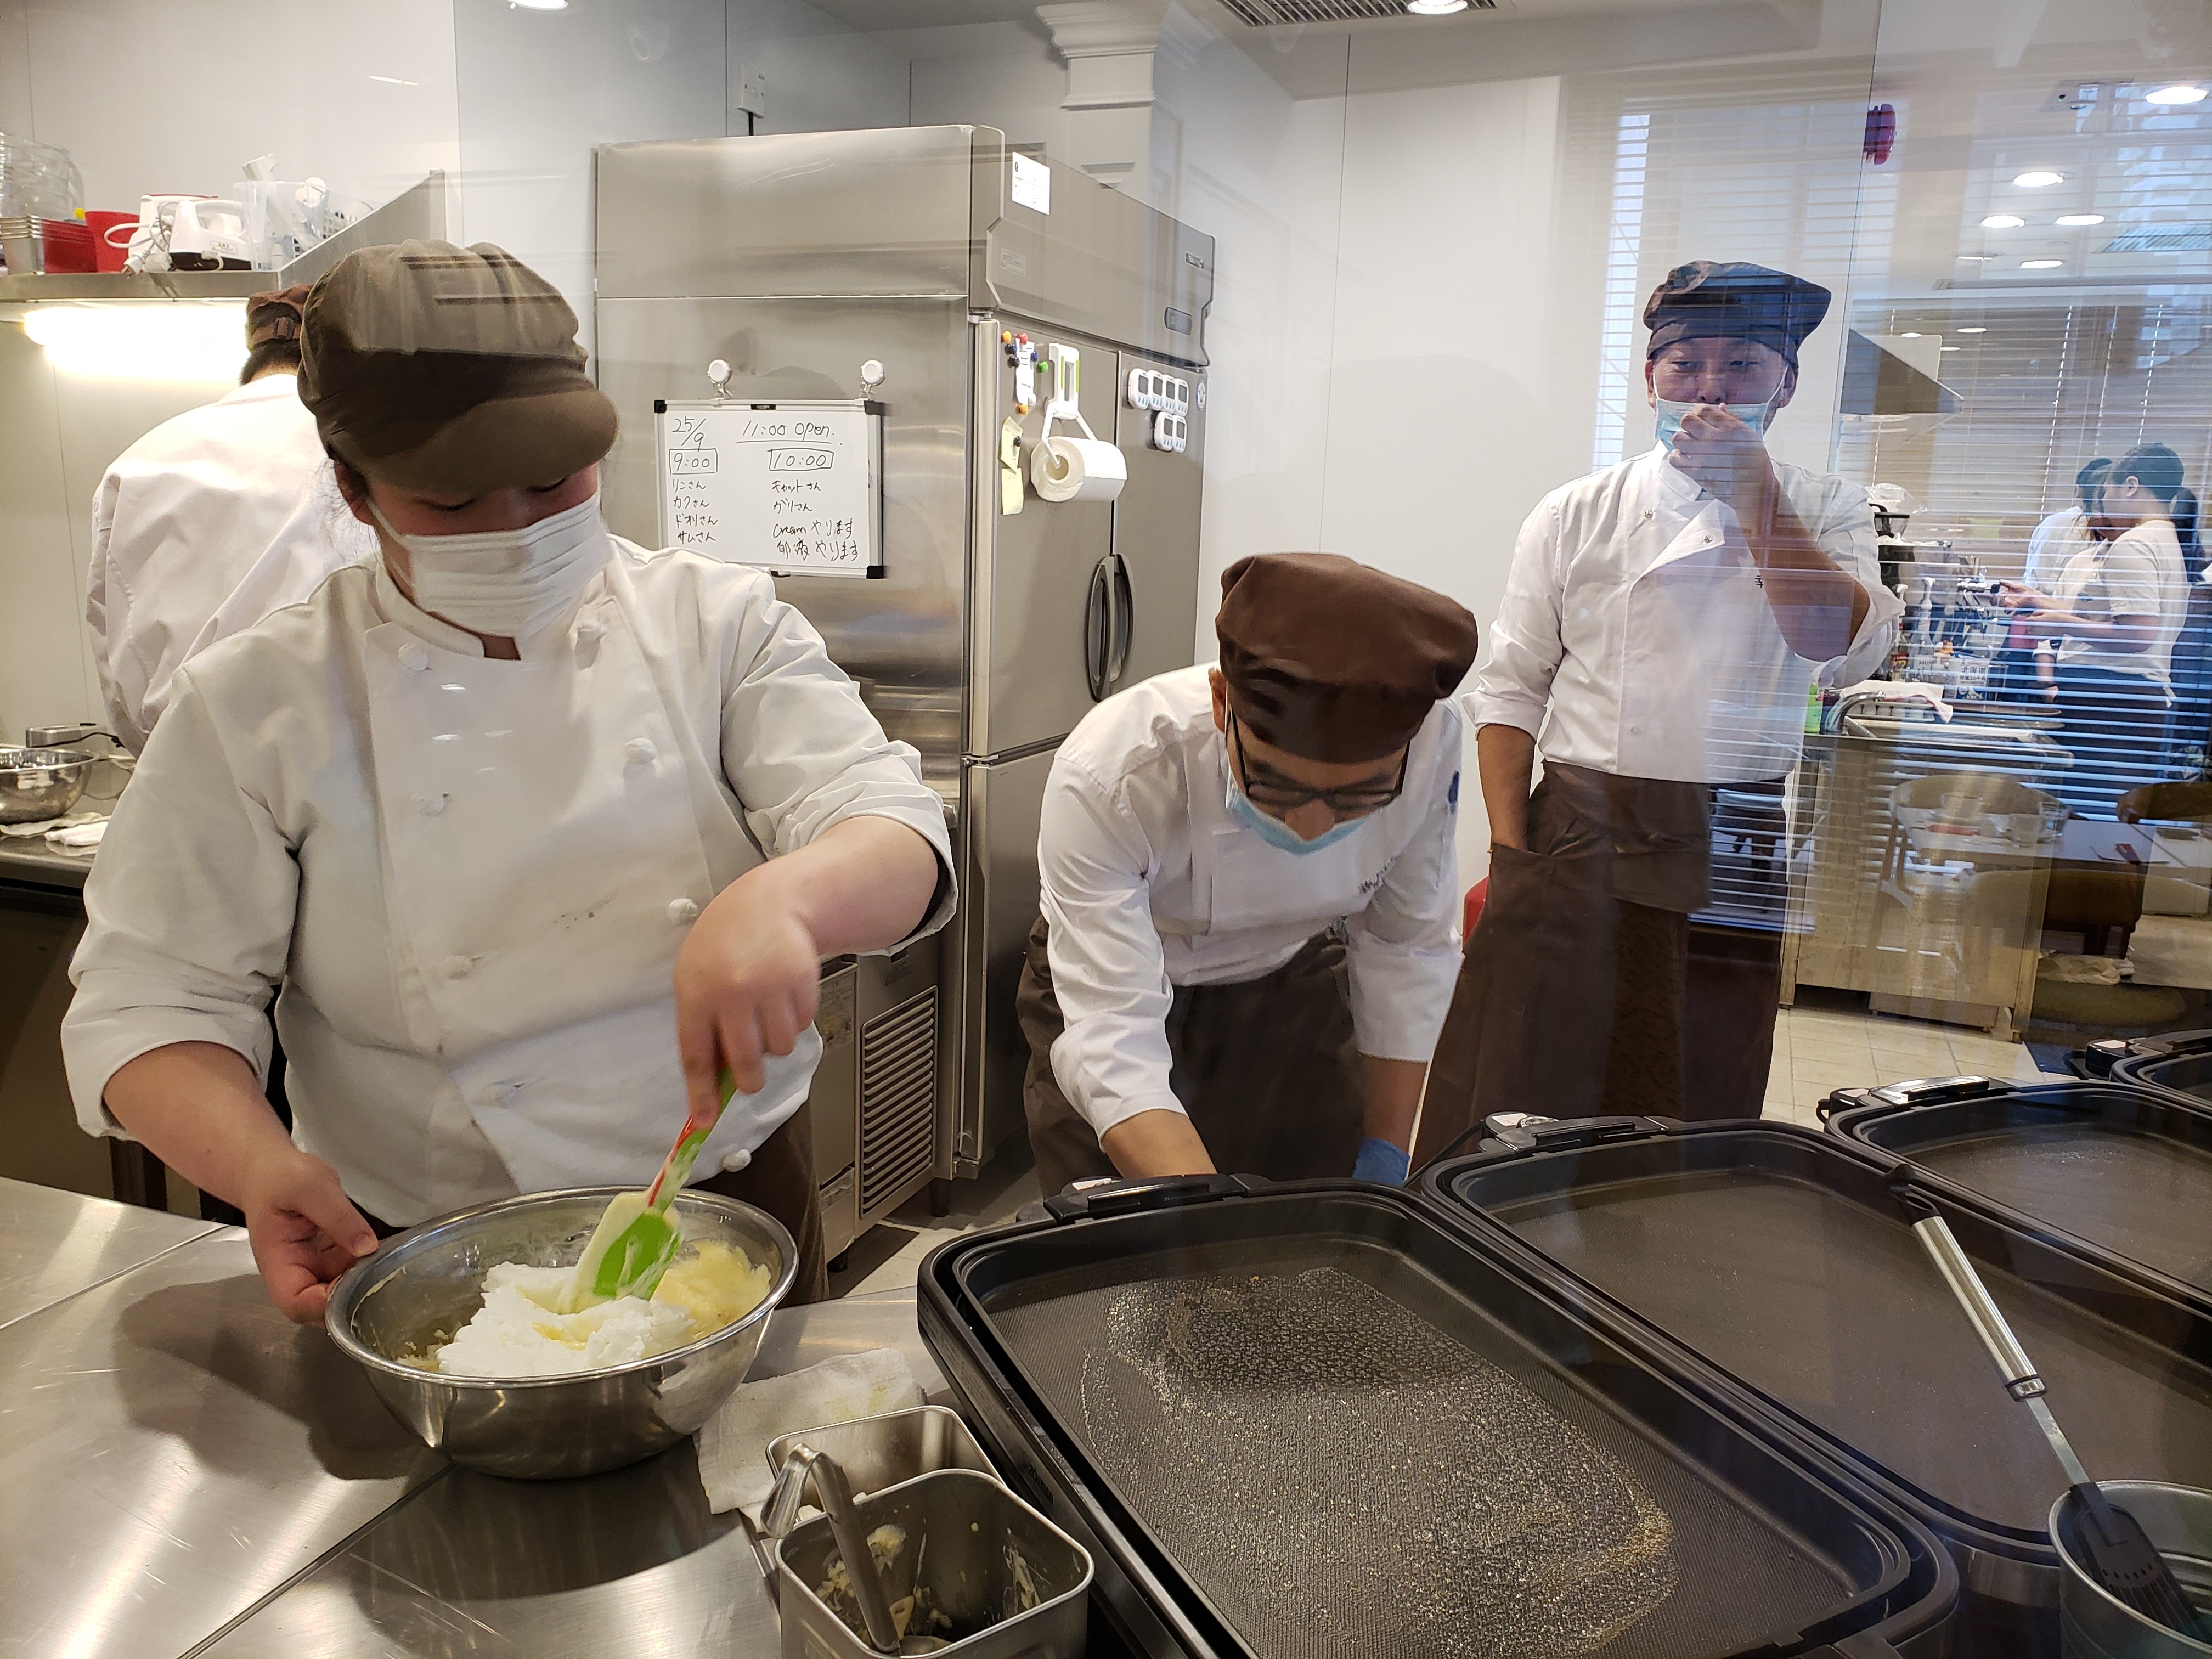
M 122 1133 L 106 1082 L 164 1044 L 265 1075 L 281 982 L 294 1139 L 385 1221 L 644 1186 L 684 1121 L 670 969 L 699 909 L 867 814 L 951 869 L 916 752 L 765 575 L 611 542 L 522 661 L 378 562 L 179 670 L 84 889 L 62 1053 L 86 1130 Z M 818 1055 L 807 1031 L 768 1060 L 701 1177 L 799 1108 Z

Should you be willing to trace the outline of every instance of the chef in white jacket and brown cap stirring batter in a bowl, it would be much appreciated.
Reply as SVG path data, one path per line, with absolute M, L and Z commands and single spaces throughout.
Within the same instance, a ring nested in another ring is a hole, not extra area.
M 299 389 L 383 557 L 177 672 L 86 883 L 82 1124 L 243 1208 L 316 1321 L 372 1221 L 644 1186 L 728 1066 L 701 1186 L 821 1294 L 821 958 L 951 911 L 914 750 L 765 575 L 608 535 L 615 409 L 498 248 L 349 254 Z

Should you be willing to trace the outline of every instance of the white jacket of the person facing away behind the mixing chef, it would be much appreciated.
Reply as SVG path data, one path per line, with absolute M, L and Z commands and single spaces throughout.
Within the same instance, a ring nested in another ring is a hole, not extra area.
M 263 555 L 279 531 L 290 546 L 272 564 Z M 133 754 L 144 750 L 179 664 L 307 597 L 330 568 L 374 549 L 376 538 L 338 500 L 290 374 L 164 420 L 93 491 L 84 622 L 108 728 Z M 257 566 L 261 582 L 241 602 L 237 588 Z

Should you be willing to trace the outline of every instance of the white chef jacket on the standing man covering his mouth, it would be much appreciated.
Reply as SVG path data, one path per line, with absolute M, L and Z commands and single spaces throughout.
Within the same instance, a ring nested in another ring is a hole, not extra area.
M 1805 699 L 1865 679 L 1902 606 L 1882 586 L 1863 484 L 1774 465 L 1867 617 L 1827 664 L 1798 657 L 1767 606 L 1734 509 L 1666 447 L 1546 495 L 1522 524 L 1506 597 L 1469 695 L 1473 726 L 1517 726 L 1546 761 L 1686 783 L 1778 779 Z

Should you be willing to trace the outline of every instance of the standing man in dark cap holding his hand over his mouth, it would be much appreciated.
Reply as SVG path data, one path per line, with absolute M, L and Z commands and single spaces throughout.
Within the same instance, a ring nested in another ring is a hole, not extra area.
M 1898 613 L 1865 487 L 1761 440 L 1827 303 L 1763 265 L 1672 270 L 1644 310 L 1659 445 L 1522 524 L 1471 695 L 1489 902 L 1416 1161 L 1495 1110 L 1759 1115 L 1781 936 L 1692 929 L 1714 785 L 1778 823 L 1814 677 L 1863 679 Z

